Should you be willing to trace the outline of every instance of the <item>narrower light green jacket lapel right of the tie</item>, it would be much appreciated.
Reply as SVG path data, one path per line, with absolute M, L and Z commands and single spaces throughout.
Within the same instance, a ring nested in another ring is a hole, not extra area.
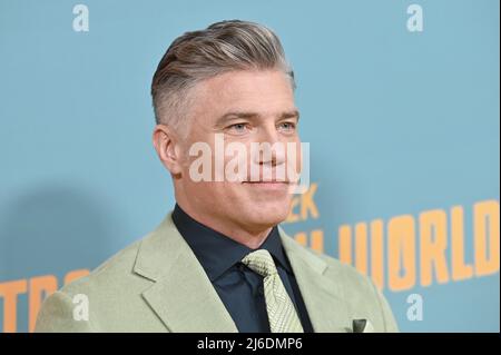
M 328 266 L 320 256 L 297 244 L 282 228 L 279 233 L 314 332 L 350 332 L 341 277 L 336 283 L 326 277 Z

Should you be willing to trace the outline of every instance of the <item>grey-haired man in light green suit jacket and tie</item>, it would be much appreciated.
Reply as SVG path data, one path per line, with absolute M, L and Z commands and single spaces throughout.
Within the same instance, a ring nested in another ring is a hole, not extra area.
M 263 26 L 223 21 L 177 38 L 151 85 L 153 141 L 173 178 L 175 209 L 49 296 L 37 331 L 395 332 L 367 277 L 278 227 L 297 180 L 277 171 L 301 160 L 278 148 L 301 142 L 294 87 L 278 38 Z M 243 148 L 237 178 L 215 178 L 216 166 L 235 157 L 217 157 L 220 142 Z M 272 148 L 253 154 L 256 142 Z M 197 145 L 212 152 L 206 164 Z M 256 167 L 257 178 L 248 172 Z M 88 300 L 88 317 L 75 316 L 75 297 Z

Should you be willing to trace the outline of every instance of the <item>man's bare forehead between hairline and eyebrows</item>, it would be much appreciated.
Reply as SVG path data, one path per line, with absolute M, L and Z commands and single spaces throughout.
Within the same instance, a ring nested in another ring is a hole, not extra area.
M 230 71 L 199 82 L 193 108 L 206 117 L 246 110 L 266 116 L 294 110 L 294 92 L 283 71 Z

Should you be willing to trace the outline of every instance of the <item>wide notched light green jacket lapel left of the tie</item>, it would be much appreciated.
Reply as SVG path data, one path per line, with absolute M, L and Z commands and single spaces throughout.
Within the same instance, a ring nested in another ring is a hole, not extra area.
M 170 332 L 237 332 L 170 214 L 143 240 L 134 270 L 154 282 L 143 297 Z

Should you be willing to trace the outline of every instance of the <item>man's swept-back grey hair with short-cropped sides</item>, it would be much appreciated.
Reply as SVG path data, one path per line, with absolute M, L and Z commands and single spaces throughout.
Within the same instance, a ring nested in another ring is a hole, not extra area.
M 193 99 L 189 89 L 197 82 L 233 70 L 256 69 L 282 70 L 293 90 L 296 87 L 278 37 L 262 24 L 229 20 L 184 33 L 169 46 L 153 77 L 156 122 L 178 130 L 186 126 L 181 118 Z

